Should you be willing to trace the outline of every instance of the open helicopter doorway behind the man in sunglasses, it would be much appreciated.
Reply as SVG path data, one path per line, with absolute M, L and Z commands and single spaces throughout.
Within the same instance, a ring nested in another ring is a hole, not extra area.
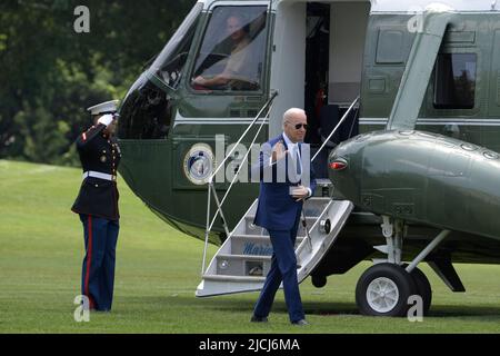
M 312 155 L 359 96 L 369 12 L 369 1 L 308 3 L 304 109 Z M 358 135 L 358 113 L 356 108 L 313 162 L 318 178 L 328 177 L 331 149 Z

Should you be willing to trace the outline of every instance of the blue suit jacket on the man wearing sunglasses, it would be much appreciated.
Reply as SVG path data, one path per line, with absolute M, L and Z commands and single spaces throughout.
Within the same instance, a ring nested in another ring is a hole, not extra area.
M 309 185 L 307 185 L 307 179 L 303 179 L 307 172 L 302 172 L 302 180 L 293 179 L 297 177 L 286 174 L 289 171 L 289 168 L 291 172 L 296 171 L 296 165 L 292 160 L 289 160 L 289 155 L 281 161 L 270 165 L 272 147 L 280 140 L 283 142 L 284 148 L 288 149 L 283 135 L 269 140 L 260 152 L 259 166 L 253 168 L 260 170 L 259 204 L 253 224 L 268 230 L 290 230 L 294 226 L 303 201 L 293 199 L 290 195 L 290 187 L 309 186 L 312 194 L 316 188 L 312 165 L 310 165 L 310 161 L 304 162 L 304 159 L 310 159 L 310 157 L 303 157 L 302 155 L 301 158 L 304 170 L 309 166 Z M 299 144 L 299 150 L 301 154 L 304 151 L 303 144 Z

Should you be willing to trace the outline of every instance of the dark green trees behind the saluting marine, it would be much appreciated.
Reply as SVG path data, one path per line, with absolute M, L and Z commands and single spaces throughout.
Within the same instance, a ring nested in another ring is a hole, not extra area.
M 77 166 L 86 108 L 122 99 L 196 0 L 1 0 L 0 159 Z M 74 9 L 90 10 L 77 33 Z

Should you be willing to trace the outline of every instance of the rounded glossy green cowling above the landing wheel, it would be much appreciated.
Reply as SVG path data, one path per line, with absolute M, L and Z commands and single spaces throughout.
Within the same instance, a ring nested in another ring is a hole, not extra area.
M 374 131 L 329 157 L 337 194 L 378 215 L 500 239 L 500 155 L 423 131 Z

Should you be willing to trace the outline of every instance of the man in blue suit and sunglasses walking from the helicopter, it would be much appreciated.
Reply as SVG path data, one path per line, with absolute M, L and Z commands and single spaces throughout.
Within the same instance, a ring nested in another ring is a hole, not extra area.
M 283 132 L 267 142 L 260 155 L 260 194 L 254 224 L 269 231 L 273 248 L 271 268 L 251 322 L 267 322 L 276 291 L 283 283 L 290 322 L 307 325 L 297 279 L 294 245 L 303 200 L 316 188 L 309 146 L 302 144 L 307 116 L 292 108 L 283 115 Z

